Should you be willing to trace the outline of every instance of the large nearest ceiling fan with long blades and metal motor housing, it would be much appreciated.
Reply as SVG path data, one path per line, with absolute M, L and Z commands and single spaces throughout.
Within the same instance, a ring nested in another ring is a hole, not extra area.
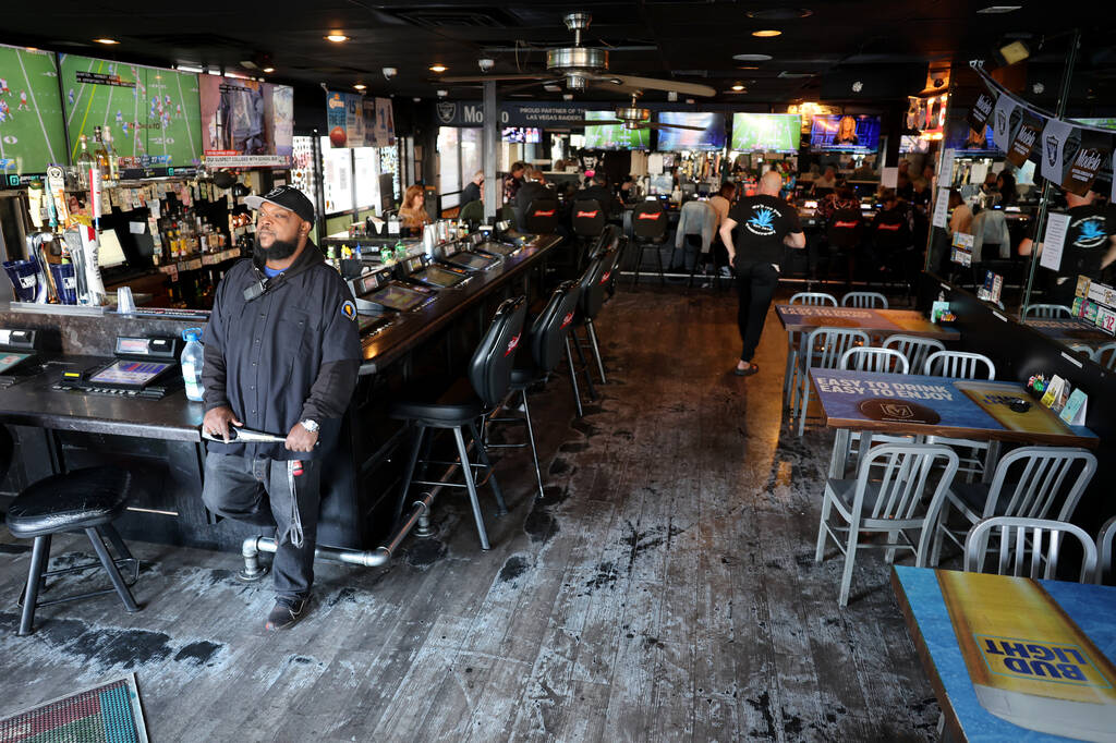
M 440 83 L 485 83 L 488 80 L 527 83 L 532 85 L 550 85 L 566 81 L 567 90 L 585 90 L 588 87 L 605 88 L 628 94 L 639 94 L 644 90 L 666 90 L 686 96 L 713 96 L 716 90 L 708 85 L 680 83 L 677 80 L 661 80 L 652 77 L 619 75 L 608 71 L 608 50 L 597 47 L 581 46 L 581 31 L 589 28 L 593 16 L 586 12 L 566 13 L 562 17 L 566 28 L 574 31 L 574 46 L 547 49 L 547 71 L 521 75 L 465 75 L 439 78 Z M 633 106 L 633 109 L 635 107 Z M 617 110 L 617 118 L 624 118 Z M 638 109 L 646 110 L 646 109 Z M 650 114 L 648 114 L 650 116 Z

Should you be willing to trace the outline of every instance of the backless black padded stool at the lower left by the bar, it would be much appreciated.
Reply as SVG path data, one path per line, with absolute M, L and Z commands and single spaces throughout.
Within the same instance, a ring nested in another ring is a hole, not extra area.
M 9 440 L 10 442 L 10 440 Z M 133 566 L 132 583 L 140 577 L 140 561 L 132 557 L 127 546 L 116 529 L 115 521 L 123 512 L 132 490 L 132 473 L 119 467 L 87 467 L 65 474 L 57 474 L 40 480 L 25 489 L 8 509 L 8 530 L 17 539 L 33 539 L 31 547 L 31 567 L 28 570 L 27 586 L 22 596 L 22 614 L 19 620 L 19 634 L 30 635 L 35 631 L 35 610 L 40 606 L 74 601 L 103 594 L 116 592 L 124 602 L 128 614 L 140 610 L 132 591 L 131 583 L 121 577 L 116 565 L 131 562 Z M 97 553 L 98 562 L 47 570 L 50 558 L 50 540 L 55 534 L 65 531 L 83 530 Z M 113 559 L 105 547 L 104 540 L 112 542 L 119 556 Z M 104 568 L 113 587 L 98 591 L 75 594 L 62 598 L 40 601 L 39 592 L 50 576 Z

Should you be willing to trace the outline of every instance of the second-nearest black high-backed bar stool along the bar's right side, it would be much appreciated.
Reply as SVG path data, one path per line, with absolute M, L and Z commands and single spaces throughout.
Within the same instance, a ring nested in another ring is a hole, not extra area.
M 542 498 L 542 472 L 539 470 L 539 452 L 535 445 L 535 425 L 531 421 L 531 408 L 527 403 L 527 389 L 539 382 L 545 382 L 562 359 L 565 351 L 570 365 L 570 382 L 574 395 L 578 402 L 580 416 L 581 399 L 577 393 L 577 376 L 574 373 L 574 361 L 569 357 L 567 337 L 577 313 L 577 297 L 580 289 L 575 281 L 562 281 L 550 295 L 542 311 L 535 318 L 531 329 L 527 332 L 527 346 L 530 354 L 517 356 L 516 368 L 511 372 L 511 390 L 518 392 L 523 402 L 522 418 L 492 418 L 501 422 L 522 421 L 527 425 L 527 444 L 489 444 L 489 448 L 509 448 L 529 445 L 531 460 L 535 463 L 535 479 L 539 483 L 539 498 Z

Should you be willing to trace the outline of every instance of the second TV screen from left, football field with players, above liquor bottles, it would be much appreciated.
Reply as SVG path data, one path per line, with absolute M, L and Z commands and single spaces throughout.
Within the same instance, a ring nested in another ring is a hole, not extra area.
M 79 81 L 79 73 L 115 75 L 123 85 Z M 108 127 L 121 157 L 152 164 L 195 165 L 201 156 L 201 103 L 192 73 L 65 55 L 61 58 L 66 127 L 71 157 L 78 135 L 92 143 L 94 127 Z M 140 123 L 137 133 L 135 123 Z

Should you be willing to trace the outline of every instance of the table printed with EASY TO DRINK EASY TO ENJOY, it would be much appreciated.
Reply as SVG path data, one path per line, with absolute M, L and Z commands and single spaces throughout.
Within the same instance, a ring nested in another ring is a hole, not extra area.
M 809 374 L 826 425 L 837 430 L 830 477 L 845 472 L 849 431 L 1089 448 L 1099 444 L 1095 433 L 1067 425 L 1014 382 L 818 367 Z M 1013 412 L 1009 403 L 1014 398 L 1029 401 L 1030 409 Z

